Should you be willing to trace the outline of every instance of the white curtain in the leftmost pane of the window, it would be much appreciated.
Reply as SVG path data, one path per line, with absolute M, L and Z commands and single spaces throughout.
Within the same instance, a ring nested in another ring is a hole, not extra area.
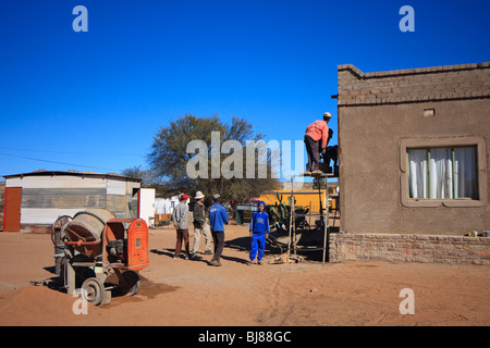
M 409 149 L 408 166 L 409 197 L 414 199 L 428 198 L 427 150 Z

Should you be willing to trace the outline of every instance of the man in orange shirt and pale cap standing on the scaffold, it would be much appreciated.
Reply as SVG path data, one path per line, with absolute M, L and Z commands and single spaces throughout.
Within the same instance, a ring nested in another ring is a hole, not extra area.
M 330 112 L 323 114 L 323 120 L 318 120 L 311 123 L 306 128 L 305 145 L 308 153 L 308 164 L 306 164 L 306 172 L 321 173 L 320 171 L 320 152 L 327 151 L 329 142 L 329 126 L 327 123 L 331 119 Z

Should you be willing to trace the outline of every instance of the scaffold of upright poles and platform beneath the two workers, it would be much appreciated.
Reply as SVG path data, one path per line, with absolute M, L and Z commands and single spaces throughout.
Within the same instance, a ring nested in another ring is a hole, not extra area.
M 329 224 L 329 215 L 330 215 L 330 207 L 328 203 L 328 177 L 333 177 L 333 173 L 322 173 L 322 174 L 315 174 L 315 173 L 304 173 L 302 175 L 292 175 L 291 176 L 291 213 L 290 213 L 290 231 L 289 231 L 289 239 L 287 239 L 287 260 L 290 260 L 290 256 L 291 256 L 291 240 L 293 239 L 293 235 L 294 235 L 294 241 L 293 241 L 293 248 L 294 248 L 294 254 L 296 254 L 296 227 L 295 227 L 295 221 L 296 217 L 298 216 L 295 213 L 295 208 L 294 208 L 294 203 L 295 203 L 295 199 L 294 199 L 294 178 L 295 177 L 305 177 L 305 176 L 309 176 L 309 177 L 315 177 L 315 178 L 326 178 L 324 181 L 324 198 L 323 198 L 323 211 L 319 212 L 320 219 L 323 223 L 323 256 L 322 256 L 322 263 L 324 263 L 326 261 L 329 261 L 329 239 L 330 239 L 330 224 Z M 321 185 L 321 179 L 318 181 L 319 185 Z M 321 203 L 321 186 L 318 189 L 318 198 L 320 199 L 320 203 Z M 320 204 L 321 207 L 321 204 Z

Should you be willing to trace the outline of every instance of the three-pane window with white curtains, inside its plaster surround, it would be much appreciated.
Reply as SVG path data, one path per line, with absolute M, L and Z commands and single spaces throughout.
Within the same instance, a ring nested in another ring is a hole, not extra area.
M 479 199 L 477 148 L 407 148 L 408 195 L 415 200 Z

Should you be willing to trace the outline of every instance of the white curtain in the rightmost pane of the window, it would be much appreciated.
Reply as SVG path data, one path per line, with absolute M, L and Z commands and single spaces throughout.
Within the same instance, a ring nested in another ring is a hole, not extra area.
M 454 149 L 454 198 L 478 199 L 476 148 Z

